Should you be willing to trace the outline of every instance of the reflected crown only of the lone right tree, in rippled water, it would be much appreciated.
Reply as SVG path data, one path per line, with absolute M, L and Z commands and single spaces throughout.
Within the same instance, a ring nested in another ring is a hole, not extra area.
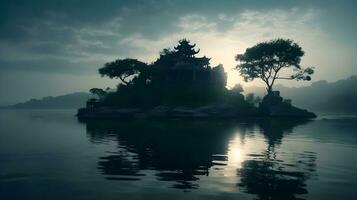
M 301 160 L 296 165 L 269 158 L 244 161 L 238 186 L 259 199 L 302 199 L 296 195 L 307 194 L 305 181 L 314 171 L 316 158 L 309 152 L 298 156 Z

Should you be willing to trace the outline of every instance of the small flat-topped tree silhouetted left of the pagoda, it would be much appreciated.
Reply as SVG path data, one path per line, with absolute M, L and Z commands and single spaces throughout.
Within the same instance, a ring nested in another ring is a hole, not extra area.
M 104 67 L 99 69 L 99 74 L 109 78 L 119 78 L 125 85 L 128 85 L 130 81 L 127 81 L 127 78 L 139 75 L 146 67 L 146 63 L 136 59 L 118 59 L 105 63 Z

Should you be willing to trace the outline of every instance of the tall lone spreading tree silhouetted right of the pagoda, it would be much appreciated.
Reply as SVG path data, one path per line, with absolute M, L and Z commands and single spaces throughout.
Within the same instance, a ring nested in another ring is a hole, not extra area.
M 275 39 L 262 42 L 248 48 L 244 54 L 238 54 L 236 61 L 245 81 L 260 78 L 270 94 L 273 85 L 278 79 L 310 81 L 314 73 L 312 67 L 303 69 L 300 66 L 301 57 L 304 55 L 302 48 L 289 39 Z M 284 77 L 279 76 L 283 69 L 291 69 L 292 74 Z

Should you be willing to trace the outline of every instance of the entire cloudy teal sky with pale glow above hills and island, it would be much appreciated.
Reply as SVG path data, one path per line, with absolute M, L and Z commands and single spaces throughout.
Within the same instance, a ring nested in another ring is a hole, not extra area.
M 244 83 L 234 57 L 275 38 L 297 42 L 314 81 L 357 74 L 357 1 L 0 0 L 0 105 L 112 87 L 98 69 L 120 58 L 152 62 L 182 38 L 228 86 Z M 306 82 L 280 82 L 301 86 Z

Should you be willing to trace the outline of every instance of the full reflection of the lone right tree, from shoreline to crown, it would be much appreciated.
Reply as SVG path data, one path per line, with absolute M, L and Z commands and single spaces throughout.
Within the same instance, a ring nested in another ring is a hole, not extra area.
M 291 157 L 277 156 L 275 146 L 281 144 L 283 135 L 291 132 L 297 124 L 305 122 L 264 121 L 259 125 L 267 138 L 267 150 L 260 156 L 246 160 L 238 170 L 238 186 L 258 199 L 301 199 L 307 194 L 305 181 L 315 171 L 316 155 L 304 151 Z

